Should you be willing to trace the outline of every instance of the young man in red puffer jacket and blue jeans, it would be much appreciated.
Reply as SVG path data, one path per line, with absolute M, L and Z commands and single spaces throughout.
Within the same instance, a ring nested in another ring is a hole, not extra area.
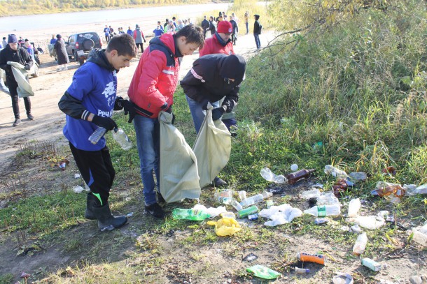
M 134 103 L 137 147 L 144 184 L 146 212 L 155 218 L 165 218 L 165 211 L 158 204 L 160 195 L 160 124 L 161 110 L 172 112 L 174 91 L 179 80 L 179 65 L 184 55 L 193 54 L 203 45 L 203 29 L 190 24 L 175 34 L 165 33 L 150 41 L 139 59 L 127 94 Z M 130 118 L 132 120 L 132 118 Z M 158 184 L 156 200 L 153 171 Z

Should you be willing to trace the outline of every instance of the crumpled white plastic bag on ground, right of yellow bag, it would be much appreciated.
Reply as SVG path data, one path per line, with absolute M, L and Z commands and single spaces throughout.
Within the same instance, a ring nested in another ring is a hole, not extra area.
M 290 223 L 293 218 L 302 216 L 302 211 L 289 204 L 281 204 L 272 206 L 269 209 L 262 209 L 258 216 L 271 219 L 271 221 L 265 222 L 264 225 L 276 226 Z

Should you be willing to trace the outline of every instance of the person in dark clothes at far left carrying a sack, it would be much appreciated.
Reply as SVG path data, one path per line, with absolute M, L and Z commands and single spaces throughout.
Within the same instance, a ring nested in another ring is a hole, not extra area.
M 20 119 L 20 105 L 18 97 L 18 82 L 15 80 L 15 76 L 12 72 L 12 66 L 8 65 L 8 61 L 19 62 L 25 66 L 26 70 L 29 70 L 33 66 L 33 59 L 28 54 L 27 50 L 22 47 L 18 47 L 18 38 L 14 34 L 8 36 L 8 45 L 0 52 L 0 68 L 6 72 L 6 83 L 9 87 L 10 98 L 12 99 L 12 109 L 15 115 L 15 121 L 13 126 L 18 126 L 21 123 Z M 27 77 L 28 81 L 28 77 Z M 25 110 L 27 111 L 27 118 L 34 120 L 31 114 L 31 100 L 29 97 L 24 98 Z

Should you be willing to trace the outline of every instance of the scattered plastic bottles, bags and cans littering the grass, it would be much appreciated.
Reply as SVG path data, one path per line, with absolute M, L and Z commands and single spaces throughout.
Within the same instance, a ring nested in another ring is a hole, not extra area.
M 297 169 L 297 165 L 292 165 L 292 170 L 296 171 Z M 295 184 L 298 181 L 309 178 L 312 172 L 314 172 L 314 169 L 302 169 L 283 176 L 276 175 L 265 167 L 261 170 L 260 174 L 264 179 L 275 184 Z M 361 216 L 359 211 L 362 202 L 360 202 L 359 198 L 350 200 L 347 213 L 342 213 L 342 204 L 339 202 L 339 198 L 344 197 L 349 187 L 351 188 L 355 184 L 365 181 L 367 174 L 365 172 L 351 172 L 350 174 L 346 174 L 343 170 L 339 170 L 332 165 L 326 165 L 324 172 L 336 178 L 335 184 L 332 185 L 330 191 L 323 191 L 322 184 L 315 184 L 311 190 L 301 192 L 299 195 L 301 199 L 315 200 L 316 202 L 314 207 L 305 209 L 304 211 L 286 203 L 274 205 L 272 200 L 273 193 L 269 190 L 247 197 L 247 193 L 244 190 L 236 193 L 234 190 L 224 189 L 218 190 L 213 196 L 214 201 L 223 204 L 223 206 L 207 208 L 202 204 L 197 204 L 191 209 L 176 208 L 172 212 L 172 216 L 175 219 L 192 221 L 202 221 L 207 218 L 220 216 L 217 221 L 209 221 L 208 224 L 214 225 L 216 234 L 221 237 L 237 234 L 247 222 L 258 220 L 258 218 L 266 219 L 265 226 L 277 226 L 291 223 L 294 218 L 298 218 L 302 214 L 309 214 L 316 217 L 314 220 L 315 224 L 328 223 L 331 221 L 328 216 L 344 216 L 346 217 L 346 222 L 351 226 L 342 226 L 341 229 L 358 234 L 356 242 L 353 245 L 353 255 L 360 257 L 360 255 L 363 255 L 368 242 L 367 234 L 363 230 L 377 230 L 386 225 L 387 221 L 393 222 L 394 218 L 389 215 L 388 211 L 379 211 L 377 215 Z M 384 174 L 395 174 L 395 168 L 387 167 L 383 172 Z M 405 196 L 427 194 L 427 184 L 423 184 L 422 186 L 405 184 L 401 186 L 400 184 L 378 181 L 371 194 L 384 197 L 393 203 L 398 203 Z M 262 203 L 265 203 L 265 208 L 260 210 L 262 208 L 260 204 Z M 228 211 L 227 207 L 234 208 L 236 213 Z M 237 221 L 244 218 L 247 219 L 246 223 Z M 422 227 L 413 228 L 409 233 L 411 234 L 410 238 L 412 241 L 422 246 L 427 246 L 427 223 Z M 252 257 L 252 259 L 257 258 L 255 255 L 248 255 L 247 257 Z M 297 260 L 299 262 L 314 262 L 325 265 L 325 255 L 300 252 L 297 254 Z M 379 271 L 386 267 L 384 264 L 375 262 L 367 257 L 360 257 L 360 263 L 372 271 Z M 307 268 L 294 267 L 293 269 L 297 274 L 309 274 L 309 269 Z M 248 267 L 246 271 L 254 276 L 265 279 L 274 279 L 281 276 L 279 272 L 258 264 Z M 332 282 L 353 283 L 353 278 L 351 278 L 350 274 L 338 273 L 332 279 Z

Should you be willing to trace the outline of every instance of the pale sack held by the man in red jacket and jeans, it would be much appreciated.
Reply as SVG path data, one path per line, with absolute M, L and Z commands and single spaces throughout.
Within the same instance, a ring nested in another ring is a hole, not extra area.
M 172 125 L 172 114 L 160 112 L 159 122 L 160 193 L 166 202 L 199 198 L 202 191 L 193 150 Z

